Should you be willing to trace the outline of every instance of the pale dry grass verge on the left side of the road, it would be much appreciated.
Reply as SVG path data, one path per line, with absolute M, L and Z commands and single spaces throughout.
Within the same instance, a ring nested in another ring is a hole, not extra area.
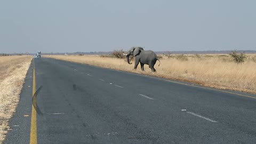
M 0 57 L 0 143 L 9 130 L 8 121 L 19 102 L 31 59 L 25 55 Z

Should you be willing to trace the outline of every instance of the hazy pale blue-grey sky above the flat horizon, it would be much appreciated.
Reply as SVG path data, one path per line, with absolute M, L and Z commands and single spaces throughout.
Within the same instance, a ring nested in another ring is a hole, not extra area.
M 256 50 L 256 1 L 0 1 L 0 53 Z

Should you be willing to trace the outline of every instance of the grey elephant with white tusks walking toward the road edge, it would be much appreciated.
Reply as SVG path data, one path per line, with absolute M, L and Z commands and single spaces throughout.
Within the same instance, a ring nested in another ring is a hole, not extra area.
M 159 59 L 157 58 L 157 55 L 156 55 L 155 52 L 153 52 L 153 51 L 145 51 L 142 47 L 139 47 L 139 46 L 134 47 L 133 46 L 128 51 L 128 53 L 124 54 L 124 55 L 126 55 L 126 59 L 127 59 L 127 62 L 129 64 L 132 64 L 129 61 L 130 55 L 135 57 L 134 69 L 137 69 L 137 67 L 138 67 L 138 65 L 140 63 L 140 67 L 141 67 L 142 71 L 144 71 L 144 65 L 145 64 L 149 66 L 149 68 L 151 69 L 152 73 L 154 73 L 156 71 L 154 66 L 156 64 L 156 61 L 157 60 L 159 61 Z M 161 64 L 161 62 L 159 61 L 158 67 L 160 66 L 160 64 Z

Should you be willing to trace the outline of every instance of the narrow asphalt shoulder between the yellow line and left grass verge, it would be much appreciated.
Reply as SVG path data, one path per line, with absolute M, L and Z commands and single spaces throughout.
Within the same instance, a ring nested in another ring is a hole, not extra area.
M 27 71 L 25 83 L 20 93 L 20 101 L 9 121 L 10 129 L 3 143 L 29 143 L 32 88 L 33 62 L 31 62 Z

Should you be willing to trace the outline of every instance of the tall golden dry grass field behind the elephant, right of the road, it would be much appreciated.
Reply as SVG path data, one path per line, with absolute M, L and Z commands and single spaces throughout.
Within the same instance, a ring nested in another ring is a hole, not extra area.
M 161 66 L 157 67 L 158 62 L 156 63 L 157 73 L 155 74 L 151 74 L 147 65 L 142 72 L 140 66 L 137 70 L 133 70 L 134 65 L 129 65 L 125 59 L 100 57 L 100 55 L 50 55 L 47 57 L 194 82 L 217 89 L 256 93 L 256 54 L 247 54 L 247 59 L 242 65 L 237 65 L 228 54 L 173 54 L 170 58 L 159 56 L 162 57 Z

